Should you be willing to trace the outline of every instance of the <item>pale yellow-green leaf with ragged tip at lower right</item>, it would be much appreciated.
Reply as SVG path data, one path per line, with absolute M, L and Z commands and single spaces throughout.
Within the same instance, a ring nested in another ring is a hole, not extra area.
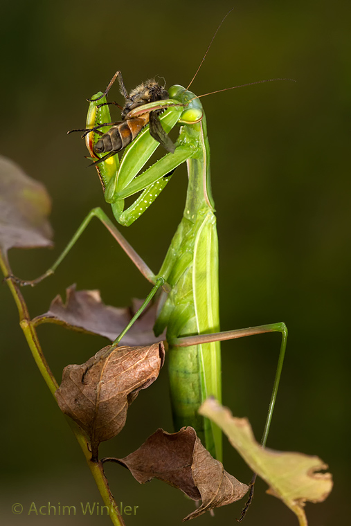
M 255 441 L 249 421 L 246 418 L 234 418 L 230 410 L 214 399 L 206 400 L 199 412 L 226 433 L 245 462 L 269 484 L 267 493 L 285 502 L 298 517 L 300 526 L 307 526 L 303 510 L 305 502 L 322 502 L 332 491 L 332 475 L 318 473 L 327 469 L 327 465 L 318 457 L 303 453 L 262 448 Z

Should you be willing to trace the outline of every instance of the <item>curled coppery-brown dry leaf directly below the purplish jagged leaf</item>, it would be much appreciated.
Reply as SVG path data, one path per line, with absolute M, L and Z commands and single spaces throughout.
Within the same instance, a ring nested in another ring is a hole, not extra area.
M 93 458 L 98 445 L 125 425 L 127 410 L 138 392 L 159 376 L 163 343 L 147 347 L 108 345 L 82 365 L 67 365 L 55 392 L 61 410 L 86 431 Z

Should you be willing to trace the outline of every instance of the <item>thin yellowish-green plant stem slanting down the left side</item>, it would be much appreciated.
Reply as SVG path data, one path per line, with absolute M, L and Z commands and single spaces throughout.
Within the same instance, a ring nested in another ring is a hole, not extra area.
M 3 253 L 1 253 L 1 251 L 0 269 L 3 272 L 5 278 L 10 277 L 11 271 L 10 266 L 8 265 L 7 257 Z M 39 338 L 37 336 L 35 326 L 32 320 L 30 320 L 28 308 L 26 302 L 24 301 L 24 297 L 22 296 L 21 291 L 15 282 L 13 282 L 11 279 L 6 280 L 6 282 L 17 305 L 17 309 L 19 312 L 19 325 L 21 325 L 21 329 L 24 332 L 24 336 L 26 337 L 26 341 L 28 343 L 30 351 L 32 352 L 33 358 L 35 359 L 35 363 L 37 364 L 37 367 L 39 368 L 39 371 L 41 372 L 42 377 L 46 382 L 46 385 L 50 389 L 51 394 L 54 395 L 55 391 L 58 388 L 58 383 L 55 377 L 53 376 L 53 373 L 51 372 L 42 352 L 42 348 L 40 347 Z M 109 484 L 103 471 L 102 462 L 93 462 L 91 460 L 89 442 L 82 429 L 80 429 L 80 427 L 68 417 L 67 422 L 71 427 L 75 438 L 78 440 L 78 444 L 82 448 L 84 457 L 87 460 L 87 464 L 93 475 L 96 485 L 98 486 L 98 490 L 100 491 L 102 499 L 105 505 L 109 508 L 109 516 L 111 518 L 112 523 L 114 524 L 114 526 L 124 526 L 125 523 L 123 521 L 123 518 L 120 515 L 120 512 L 118 511 L 116 501 L 114 500 L 114 497 L 112 496 L 111 491 L 109 489 Z

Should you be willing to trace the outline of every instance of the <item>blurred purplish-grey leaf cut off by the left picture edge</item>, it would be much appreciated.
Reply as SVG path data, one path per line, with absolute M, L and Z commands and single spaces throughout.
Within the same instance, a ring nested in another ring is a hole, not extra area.
M 44 185 L 31 179 L 10 159 L 0 156 L 0 247 L 51 246 L 46 219 L 51 199 Z

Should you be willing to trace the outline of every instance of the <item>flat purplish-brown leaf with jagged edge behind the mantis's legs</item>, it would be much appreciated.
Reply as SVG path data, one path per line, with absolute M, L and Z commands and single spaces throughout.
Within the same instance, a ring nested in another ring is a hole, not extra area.
M 100 334 L 114 341 L 127 326 L 142 300 L 133 300 L 132 308 L 118 308 L 105 305 L 100 291 L 76 291 L 75 285 L 66 289 L 66 303 L 60 295 L 51 302 L 48 311 L 33 321 L 39 323 L 57 323 L 77 331 Z M 123 337 L 125 345 L 150 345 L 165 339 L 165 334 L 154 336 L 152 327 L 156 318 L 156 304 L 150 304 L 139 316 L 134 325 Z

